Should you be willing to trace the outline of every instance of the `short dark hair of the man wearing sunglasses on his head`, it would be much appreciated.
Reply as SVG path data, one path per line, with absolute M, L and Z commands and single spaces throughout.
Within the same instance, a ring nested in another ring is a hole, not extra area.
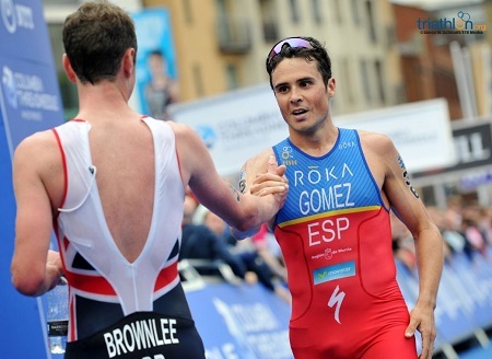
M 325 85 L 328 84 L 328 80 L 331 79 L 331 59 L 326 50 L 325 46 L 313 37 L 297 36 L 307 40 L 313 47 L 291 47 L 289 44 L 284 44 L 279 54 L 267 60 L 267 72 L 270 77 L 270 86 L 273 89 L 273 83 L 271 81 L 271 73 L 277 68 L 277 66 L 285 58 L 305 58 L 306 61 L 315 60 L 319 73 L 321 73 L 323 81 Z M 281 40 L 282 42 L 282 40 Z M 281 43 L 279 42 L 279 43 Z M 278 44 L 279 44 L 278 43 Z M 270 51 L 271 53 L 271 51 Z M 269 54 L 270 54 L 269 53 Z

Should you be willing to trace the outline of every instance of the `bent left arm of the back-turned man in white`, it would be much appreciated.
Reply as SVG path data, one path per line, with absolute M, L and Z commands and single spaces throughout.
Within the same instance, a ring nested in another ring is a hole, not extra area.
M 13 160 L 16 218 L 11 279 L 21 293 L 33 297 L 50 290 L 62 275 L 60 254 L 49 250 L 52 215 L 42 178 L 43 171 L 52 171 L 46 160 L 52 141 L 47 138 L 52 138 L 51 132 L 24 139 Z

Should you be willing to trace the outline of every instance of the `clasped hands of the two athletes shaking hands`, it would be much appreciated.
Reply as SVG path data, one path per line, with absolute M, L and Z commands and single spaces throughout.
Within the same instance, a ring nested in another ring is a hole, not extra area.
M 274 155 L 270 155 L 267 164 L 267 172 L 258 174 L 253 182 L 251 195 L 263 197 L 272 194 L 286 195 L 285 184 L 289 183 L 285 177 L 285 165 L 278 165 Z

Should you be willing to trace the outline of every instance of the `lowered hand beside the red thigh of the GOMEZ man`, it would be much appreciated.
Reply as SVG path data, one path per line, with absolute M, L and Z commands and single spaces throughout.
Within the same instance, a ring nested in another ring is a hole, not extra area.
M 417 303 L 410 312 L 410 324 L 405 332 L 406 337 L 414 335 L 419 331 L 422 336 L 422 352 L 419 359 L 432 359 L 435 340 L 434 308 Z

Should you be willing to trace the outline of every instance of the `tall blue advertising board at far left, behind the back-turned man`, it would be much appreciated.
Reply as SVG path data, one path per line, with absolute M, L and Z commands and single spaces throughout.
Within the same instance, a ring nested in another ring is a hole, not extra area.
M 20 294 L 10 279 L 12 154 L 25 137 L 63 121 L 42 0 L 0 1 L 0 352 L 4 358 L 49 358 L 42 300 Z

